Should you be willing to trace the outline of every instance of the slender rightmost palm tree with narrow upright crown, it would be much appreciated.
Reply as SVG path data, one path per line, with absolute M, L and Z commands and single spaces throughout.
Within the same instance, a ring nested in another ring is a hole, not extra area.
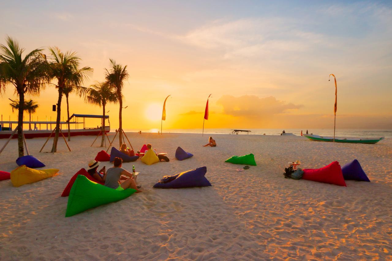
M 111 62 L 111 68 L 108 70 L 105 68 L 106 70 L 106 81 L 110 84 L 110 86 L 112 88 L 114 88 L 116 90 L 116 94 L 117 94 L 117 99 L 118 99 L 118 103 L 120 104 L 120 110 L 118 112 L 118 122 L 119 122 L 119 127 L 118 127 L 118 131 L 120 131 L 120 146 L 122 144 L 122 89 L 124 86 L 124 81 L 128 79 L 129 74 L 127 72 L 127 65 L 125 65 L 124 67 L 118 63 L 116 63 L 116 61 L 114 61 L 113 59 L 110 59 Z

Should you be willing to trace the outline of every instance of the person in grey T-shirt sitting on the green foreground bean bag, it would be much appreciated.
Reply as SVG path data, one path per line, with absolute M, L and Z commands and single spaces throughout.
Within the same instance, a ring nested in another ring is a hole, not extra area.
M 115 157 L 113 161 L 114 167 L 109 167 L 106 171 L 105 186 L 112 189 L 122 191 L 127 188 L 136 189 L 136 193 L 142 192 L 136 186 L 136 182 L 132 178 L 132 173 L 123 169 L 122 159 Z M 121 178 L 121 175 L 128 176 L 126 180 Z

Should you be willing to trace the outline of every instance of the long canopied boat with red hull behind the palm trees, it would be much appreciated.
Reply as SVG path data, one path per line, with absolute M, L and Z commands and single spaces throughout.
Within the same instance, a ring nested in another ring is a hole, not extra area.
M 75 119 L 73 122 L 71 122 L 72 118 Z M 83 121 L 78 121 L 78 118 L 83 118 Z M 74 126 L 74 129 L 70 128 L 71 136 L 79 136 L 79 135 L 97 136 L 100 133 L 102 127 L 99 126 L 93 128 L 86 127 L 85 125 L 86 118 L 98 118 L 101 119 L 101 123 L 103 120 L 102 115 L 73 114 L 71 117 L 69 117 L 70 126 Z M 109 115 L 105 115 L 105 119 L 107 119 L 109 122 L 109 124 L 105 124 L 105 130 L 106 132 L 110 132 Z M 8 125 L 8 127 L 5 127 L 4 124 Z M 24 121 L 23 124 L 32 125 L 31 126 L 32 130 L 23 130 L 26 139 L 49 137 L 49 135 L 53 131 L 53 128 L 56 127 L 55 121 Z M 83 128 L 79 128 L 79 124 L 83 124 Z M 12 135 L 12 133 L 14 133 L 14 129 L 16 128 L 16 126 L 18 126 L 17 121 L 0 121 L 0 139 L 8 139 Z M 68 137 L 68 121 L 61 121 L 60 128 L 64 136 Z M 17 137 L 18 134 L 15 133 L 12 138 L 16 139 Z

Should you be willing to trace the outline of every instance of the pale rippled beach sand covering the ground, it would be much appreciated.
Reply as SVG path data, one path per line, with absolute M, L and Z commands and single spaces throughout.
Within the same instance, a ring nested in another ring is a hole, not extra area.
M 113 134 L 112 134 L 113 135 Z M 31 155 L 60 174 L 13 187 L 0 182 L 0 259 L 389 259 L 392 260 L 392 140 L 376 145 L 312 142 L 303 137 L 129 133 L 138 150 L 150 142 L 170 162 L 132 164 L 146 190 L 65 218 L 65 185 L 93 159 L 94 137 L 73 137 L 72 152 L 38 153 L 45 139 L 27 140 Z M 5 140 L 0 140 L 0 146 Z M 49 142 L 46 151 L 50 150 Z M 116 144 L 118 144 L 116 142 Z M 194 154 L 178 161 L 177 146 Z M 254 153 L 258 166 L 225 163 Z M 16 167 L 16 140 L 0 170 Z M 372 182 L 347 187 L 283 178 L 287 162 L 316 168 L 357 158 Z M 101 166 L 111 166 L 109 162 Z M 207 166 L 212 187 L 153 189 L 163 175 Z

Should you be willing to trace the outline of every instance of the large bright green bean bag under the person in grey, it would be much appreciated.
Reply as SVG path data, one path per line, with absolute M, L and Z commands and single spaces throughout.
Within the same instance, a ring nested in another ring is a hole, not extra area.
M 70 217 L 93 207 L 116 202 L 131 196 L 135 189 L 117 190 L 78 175 L 68 197 L 65 217 Z

